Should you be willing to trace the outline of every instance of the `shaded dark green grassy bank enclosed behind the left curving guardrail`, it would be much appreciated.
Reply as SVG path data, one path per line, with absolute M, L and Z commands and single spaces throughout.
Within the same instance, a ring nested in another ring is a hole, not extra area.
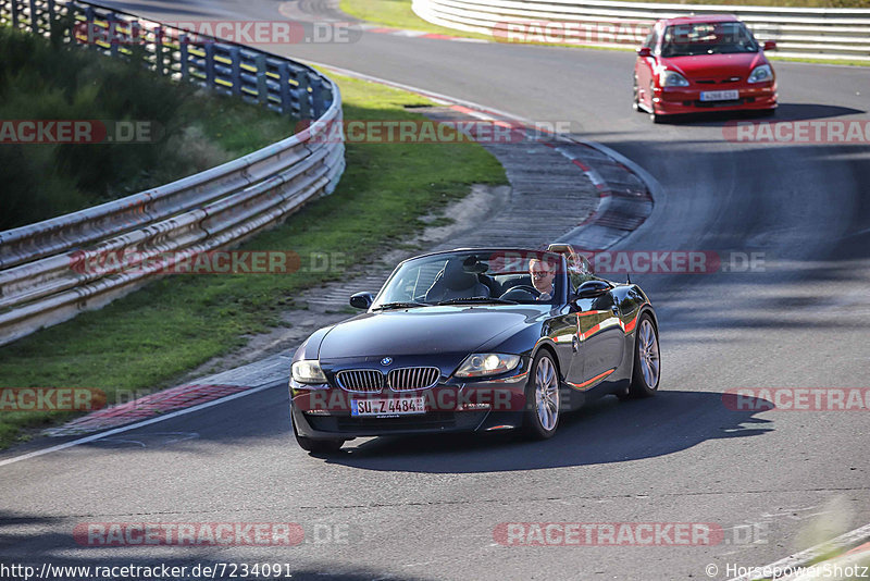
M 0 230 L 159 186 L 293 134 L 256 104 L 0 27 L 0 120 L 146 121 L 147 144 L 0 145 Z

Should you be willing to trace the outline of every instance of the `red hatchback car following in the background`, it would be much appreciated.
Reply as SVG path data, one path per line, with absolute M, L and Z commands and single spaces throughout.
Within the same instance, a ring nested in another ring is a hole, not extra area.
M 776 77 L 759 46 L 732 15 L 661 20 L 637 49 L 634 109 L 654 122 L 711 110 L 773 114 Z

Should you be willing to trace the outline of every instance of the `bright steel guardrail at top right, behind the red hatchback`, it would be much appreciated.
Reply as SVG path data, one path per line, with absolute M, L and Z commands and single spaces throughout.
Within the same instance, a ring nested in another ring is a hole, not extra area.
M 870 61 L 870 9 L 744 7 L 731 4 L 659 4 L 607 0 L 413 0 L 421 18 L 458 30 L 492 35 L 507 23 L 555 22 L 608 24 L 614 27 L 613 41 L 595 42 L 605 47 L 637 47 L 645 36 L 638 24 L 687 14 L 734 14 L 743 20 L 759 40 L 775 40 L 773 55 Z M 623 34 L 620 38 L 620 30 Z M 636 34 L 635 34 L 636 33 Z M 583 45 L 583 32 L 560 30 L 574 36 L 568 44 Z

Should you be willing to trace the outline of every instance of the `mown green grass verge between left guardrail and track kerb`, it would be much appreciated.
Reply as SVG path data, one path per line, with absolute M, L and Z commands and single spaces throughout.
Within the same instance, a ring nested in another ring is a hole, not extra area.
M 412 94 L 332 75 L 346 120 L 419 120 Z M 311 272 L 311 252 L 343 252 L 366 263 L 424 226 L 419 217 L 465 196 L 473 183 L 505 184 L 501 165 L 476 144 L 350 144 L 347 171 L 332 196 L 308 205 L 247 249 L 293 250 L 289 275 L 174 275 L 99 311 L 0 347 L 0 387 L 95 387 L 119 393 L 166 387 L 208 359 L 281 324 L 306 287 L 339 279 Z M 124 391 L 124 392 L 122 392 Z M 69 418 L 60 412 L 0 412 L 0 446 L 26 429 Z

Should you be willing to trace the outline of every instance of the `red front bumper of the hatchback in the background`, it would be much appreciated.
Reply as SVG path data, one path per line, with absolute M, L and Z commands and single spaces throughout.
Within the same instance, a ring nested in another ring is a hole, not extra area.
M 728 101 L 701 101 L 708 90 L 737 90 L 738 98 Z M 759 83 L 741 86 L 698 86 L 656 88 L 652 103 L 657 114 L 679 115 L 710 111 L 765 111 L 776 108 L 776 84 Z

